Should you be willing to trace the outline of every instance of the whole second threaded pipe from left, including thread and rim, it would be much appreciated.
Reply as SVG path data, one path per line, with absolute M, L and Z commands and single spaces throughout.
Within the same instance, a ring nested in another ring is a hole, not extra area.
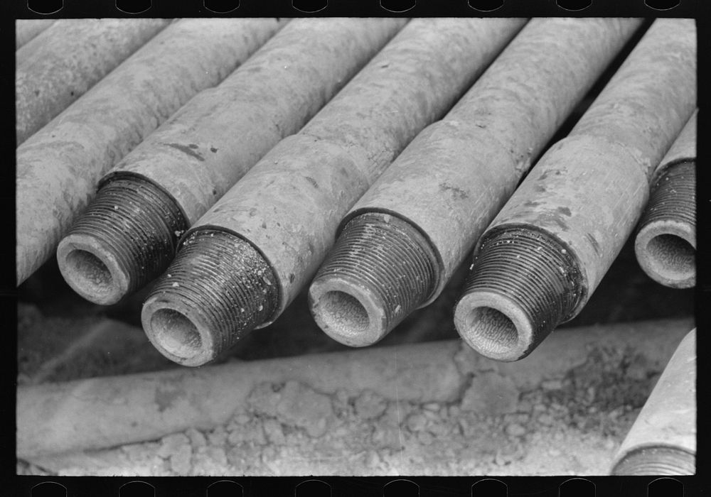
M 144 304 L 151 342 L 199 366 L 274 321 L 314 275 L 343 214 L 524 22 L 410 21 L 183 236 Z

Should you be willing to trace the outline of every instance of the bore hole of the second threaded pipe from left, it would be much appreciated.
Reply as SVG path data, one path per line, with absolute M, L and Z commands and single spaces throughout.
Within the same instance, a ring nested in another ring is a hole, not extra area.
M 156 342 L 174 356 L 188 359 L 201 352 L 203 341 L 198 328 L 178 311 L 156 310 L 151 317 L 151 329 Z

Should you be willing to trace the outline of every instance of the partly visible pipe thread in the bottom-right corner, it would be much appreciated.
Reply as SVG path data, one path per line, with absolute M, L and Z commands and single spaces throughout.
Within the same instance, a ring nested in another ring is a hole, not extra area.
M 640 447 L 626 454 L 611 471 L 612 475 L 696 474 L 696 455 L 680 447 L 664 445 Z

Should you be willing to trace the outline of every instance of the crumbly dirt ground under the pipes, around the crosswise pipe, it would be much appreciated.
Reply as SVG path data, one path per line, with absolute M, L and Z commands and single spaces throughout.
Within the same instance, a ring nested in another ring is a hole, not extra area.
M 55 271 L 49 265 L 21 288 L 19 385 L 176 367 L 136 327 L 141 295 L 112 307 L 91 305 L 64 288 Z M 378 345 L 455 339 L 451 308 L 461 276 L 437 302 Z M 636 266 L 628 244 L 589 305 L 566 327 L 692 315 L 693 292 L 651 281 Z M 301 296 L 272 327 L 252 333 L 223 361 L 344 349 L 319 331 Z M 20 460 L 17 471 L 140 476 L 606 474 L 660 373 L 658 364 L 634 349 L 599 344 L 584 364 L 535 388 L 522 390 L 491 371 L 472 378 L 449 403 L 398 402 L 373 392 L 327 395 L 296 381 L 262 383 L 228 423 L 212 430 L 191 428 L 144 443 Z

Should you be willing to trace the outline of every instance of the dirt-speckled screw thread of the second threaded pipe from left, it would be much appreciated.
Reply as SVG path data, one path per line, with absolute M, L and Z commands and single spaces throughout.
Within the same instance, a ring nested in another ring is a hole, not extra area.
M 212 350 L 201 354 L 208 353 L 214 360 L 272 315 L 278 300 L 277 279 L 249 242 L 226 231 L 198 229 L 181 242 L 175 260 L 146 302 L 151 300 L 170 302 L 166 307 L 188 320 L 199 315 L 198 327 L 210 334 L 213 344 Z M 171 330 L 152 333 L 151 339 L 160 344 L 166 342 L 161 333 Z

